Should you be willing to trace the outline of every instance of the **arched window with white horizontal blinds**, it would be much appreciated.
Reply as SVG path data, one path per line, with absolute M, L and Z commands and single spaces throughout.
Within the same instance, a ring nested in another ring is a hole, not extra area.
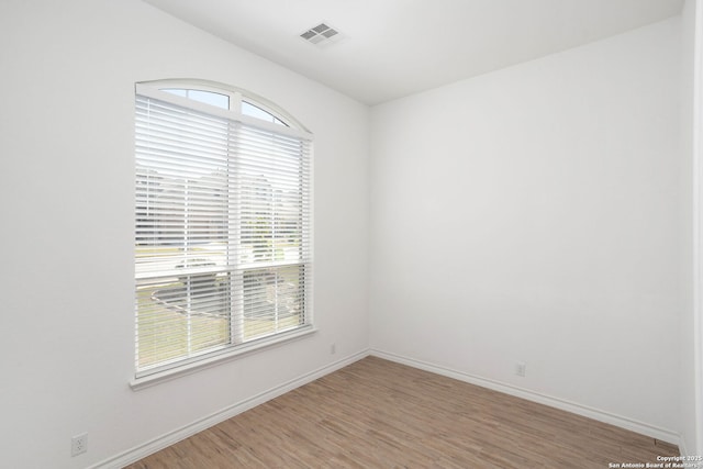
M 212 83 L 136 86 L 136 378 L 312 328 L 311 135 Z

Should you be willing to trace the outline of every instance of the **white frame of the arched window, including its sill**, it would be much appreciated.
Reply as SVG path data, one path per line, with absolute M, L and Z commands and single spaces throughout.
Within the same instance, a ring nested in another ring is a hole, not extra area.
M 198 91 L 225 94 L 230 99 L 228 101 L 230 109 L 225 110 L 223 108 L 210 105 L 208 103 L 204 103 L 198 100 L 193 100 L 187 97 L 164 91 L 164 89 L 187 89 L 187 90 L 198 90 Z M 248 92 L 246 90 L 232 87 L 232 86 L 216 83 L 213 81 L 205 81 L 205 80 L 198 80 L 198 79 L 166 79 L 166 80 L 137 82 L 135 83 L 135 99 L 138 99 L 138 97 L 169 102 L 171 104 L 175 104 L 181 108 L 191 109 L 196 112 L 202 112 L 213 116 L 225 118 L 228 121 L 235 122 L 235 123 L 239 122 L 249 127 L 256 127 L 261 131 L 272 132 L 276 134 L 300 138 L 301 141 L 310 142 L 309 144 L 310 150 L 308 154 L 309 169 L 306 175 L 306 185 L 304 186 L 304 190 L 309 194 L 309 200 L 306 202 L 303 202 L 303 205 L 301 205 L 301 210 L 306 211 L 308 228 L 306 230 L 301 228 L 301 232 L 300 232 L 301 243 L 306 243 L 309 245 L 306 248 L 306 252 L 309 254 L 305 259 L 301 257 L 301 259 L 298 263 L 292 265 L 304 266 L 303 267 L 304 275 L 311 276 L 311 269 L 313 266 L 313 225 L 312 225 L 313 224 L 313 220 L 312 220 L 313 217 L 313 180 L 312 180 L 313 178 L 313 169 L 312 169 L 313 137 L 312 137 L 312 134 L 291 114 L 289 114 L 278 105 L 274 104 L 272 102 L 257 94 Z M 254 118 L 252 115 L 247 115 L 243 113 L 242 102 L 248 102 L 249 104 L 270 114 L 275 120 L 278 120 L 280 122 L 279 123 L 276 123 L 275 121 L 269 122 L 267 120 L 261 120 L 261 119 Z M 230 147 L 227 146 L 227 148 Z M 231 149 L 227 149 L 227 152 L 230 150 Z M 230 155 L 230 153 L 227 153 L 227 155 Z M 227 158 L 230 158 L 230 156 Z M 227 187 L 231 189 L 230 186 Z M 137 190 L 136 187 L 135 187 L 135 190 Z M 231 204 L 228 204 L 227 206 L 228 206 L 228 210 L 232 210 Z M 138 245 L 137 239 L 138 239 L 138 234 L 141 233 L 138 232 L 137 225 L 136 225 L 138 224 L 138 222 L 140 222 L 138 214 L 135 213 L 135 238 L 134 238 L 135 249 L 136 249 L 136 246 Z M 230 242 L 227 242 L 227 245 L 228 243 Z M 235 246 L 235 248 L 237 247 Z M 274 264 L 276 263 L 274 261 Z M 228 269 L 233 269 L 233 271 L 236 270 L 236 268 L 233 265 L 231 265 L 228 260 L 227 260 L 226 267 Z M 279 264 L 277 266 L 271 266 L 270 268 L 277 269 L 277 268 L 282 268 L 282 266 Z M 239 266 L 239 269 L 241 269 L 241 266 Z M 136 282 L 138 282 L 138 278 L 140 278 L 140 273 L 137 272 L 136 250 L 135 250 L 135 289 L 134 289 L 135 294 L 137 291 Z M 228 281 L 232 282 L 231 279 Z M 137 304 L 137 301 L 135 301 L 135 311 L 134 311 L 134 314 L 135 314 L 135 335 L 134 335 L 135 337 L 135 342 L 134 342 L 135 372 L 134 372 L 134 379 L 131 381 L 131 387 L 134 390 L 142 389 L 144 387 L 153 386 L 164 380 L 170 380 L 181 375 L 188 375 L 188 373 L 194 372 L 202 368 L 209 368 L 214 364 L 217 364 L 226 359 L 231 359 L 236 356 L 248 354 L 254 350 L 258 350 L 263 348 L 268 348 L 268 347 L 281 344 L 283 342 L 293 340 L 302 336 L 306 336 L 311 333 L 314 333 L 316 328 L 315 328 L 315 323 L 313 321 L 312 281 L 306 279 L 304 287 L 298 287 L 298 288 L 301 289 L 304 294 L 304 301 L 303 301 L 304 310 L 302 313 L 304 323 L 302 325 L 295 326 L 290 331 L 277 332 L 272 335 L 263 336 L 259 338 L 254 338 L 248 340 L 245 339 L 238 343 L 235 343 L 234 338 L 230 336 L 228 345 L 222 346 L 215 350 L 207 351 L 197 356 L 188 356 L 186 358 L 176 359 L 174 360 L 174 362 L 165 362 L 165 365 L 157 365 L 153 367 L 149 366 L 149 367 L 143 367 L 143 368 L 140 368 L 140 364 L 138 364 L 140 332 L 137 327 L 138 327 L 138 313 L 140 313 L 138 308 L 140 306 Z M 241 293 L 237 293 L 237 294 L 245 294 L 245 292 L 246 291 L 243 290 Z M 228 327 L 231 331 L 234 327 L 232 323 L 235 320 L 244 317 L 245 315 L 245 312 L 241 312 L 241 316 L 232 315 L 232 311 L 234 311 L 233 308 L 234 306 L 230 306 L 231 315 L 227 320 L 230 324 Z

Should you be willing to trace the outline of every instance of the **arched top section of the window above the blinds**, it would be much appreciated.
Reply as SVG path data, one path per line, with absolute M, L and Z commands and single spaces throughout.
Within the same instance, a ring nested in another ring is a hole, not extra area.
M 255 93 L 228 85 L 198 79 L 143 81 L 137 85 L 154 91 L 166 92 L 209 107 L 308 133 L 308 130 L 298 120 L 277 104 Z

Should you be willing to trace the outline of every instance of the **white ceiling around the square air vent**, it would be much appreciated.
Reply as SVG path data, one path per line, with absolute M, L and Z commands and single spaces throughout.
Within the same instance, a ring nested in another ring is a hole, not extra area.
M 678 14 L 683 0 L 145 0 L 367 104 Z M 326 47 L 299 35 L 321 22 Z

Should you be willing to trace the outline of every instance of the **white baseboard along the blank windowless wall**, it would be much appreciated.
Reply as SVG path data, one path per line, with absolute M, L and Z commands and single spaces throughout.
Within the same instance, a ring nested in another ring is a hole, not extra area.
M 600 411 L 598 409 L 577 404 L 574 402 L 569 402 L 563 399 L 554 398 L 551 395 L 542 394 L 542 393 L 518 388 L 512 384 L 506 384 L 500 381 L 494 381 L 491 379 L 481 378 L 481 377 L 465 373 L 461 371 L 451 370 L 449 368 L 440 367 L 440 366 L 428 364 L 421 360 L 415 360 L 413 358 L 390 354 L 388 351 L 371 349 L 370 355 L 375 357 L 383 358 L 390 361 L 395 361 L 402 365 L 408 365 L 413 368 L 419 368 L 425 371 L 429 371 L 436 375 L 454 378 L 459 381 L 465 381 L 471 384 L 480 386 L 482 388 L 488 388 L 494 391 L 504 392 L 505 394 L 526 399 L 528 401 L 537 402 L 539 404 L 549 405 L 550 407 L 560 409 L 562 411 L 571 412 L 577 415 L 581 415 L 584 417 L 596 420 L 599 422 L 604 422 L 611 425 L 615 425 L 621 428 L 629 429 L 632 432 L 636 432 L 641 435 L 647 435 L 652 438 L 657 438 L 662 442 L 670 443 L 672 445 L 680 445 L 681 443 L 681 438 L 679 437 L 679 434 L 677 434 L 676 432 L 672 432 L 666 428 L 659 428 L 657 426 L 649 425 L 644 422 L 638 422 L 633 418 L 627 418 L 621 415 L 616 415 L 610 412 Z M 684 454 L 683 450 L 681 450 L 681 454 Z

